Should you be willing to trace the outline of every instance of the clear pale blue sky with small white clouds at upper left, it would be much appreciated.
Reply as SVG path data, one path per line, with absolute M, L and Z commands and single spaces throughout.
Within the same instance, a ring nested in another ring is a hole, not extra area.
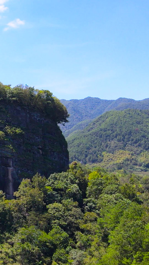
M 0 82 L 149 97 L 149 0 L 0 0 Z

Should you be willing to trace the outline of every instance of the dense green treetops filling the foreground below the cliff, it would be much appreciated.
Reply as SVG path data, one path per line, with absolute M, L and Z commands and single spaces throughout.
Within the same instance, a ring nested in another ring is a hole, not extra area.
M 0 192 L 1 265 L 148 265 L 149 177 L 76 162 Z

